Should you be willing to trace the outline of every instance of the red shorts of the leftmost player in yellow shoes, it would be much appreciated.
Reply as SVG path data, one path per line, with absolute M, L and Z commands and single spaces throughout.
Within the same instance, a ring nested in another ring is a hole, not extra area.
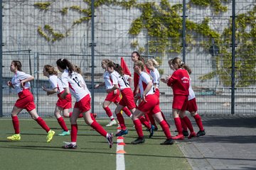
M 24 89 L 23 91 L 19 92 L 18 100 L 14 106 L 17 108 L 25 108 L 26 111 L 32 111 L 34 108 L 36 108 L 31 91 L 29 91 L 29 89 Z

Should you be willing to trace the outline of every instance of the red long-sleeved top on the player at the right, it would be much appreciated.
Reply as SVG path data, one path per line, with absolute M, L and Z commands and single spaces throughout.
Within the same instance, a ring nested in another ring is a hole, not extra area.
M 171 86 L 174 95 L 189 95 L 189 75 L 186 69 L 177 69 L 174 71 L 174 74 L 171 75 L 171 78 L 168 80 L 168 86 Z

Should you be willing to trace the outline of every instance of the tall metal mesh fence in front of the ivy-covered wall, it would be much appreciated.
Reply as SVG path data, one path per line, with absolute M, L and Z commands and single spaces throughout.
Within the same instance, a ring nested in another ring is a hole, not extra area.
M 161 77 L 172 73 L 169 59 L 183 58 L 192 69 L 198 113 L 230 114 L 233 1 L 185 2 L 186 16 L 183 17 L 181 0 L 95 1 L 92 27 L 91 6 L 87 1 L 4 1 L 4 117 L 10 116 L 16 101 L 14 91 L 6 86 L 6 80 L 13 76 L 8 68 L 11 60 L 21 60 L 23 71 L 35 77 L 32 91 L 40 115 L 53 116 L 57 101 L 57 96 L 46 96 L 41 90 L 41 86 L 49 86 L 47 77 L 43 77 L 43 66 L 55 66 L 56 60 L 67 58 L 82 69 L 88 88 L 95 92 L 94 111 L 105 117 L 102 109 L 105 89 L 92 89 L 91 76 L 94 75 L 95 84 L 103 81 L 100 63 L 104 58 L 119 63 L 120 57 L 124 57 L 133 73 L 130 55 L 135 50 L 145 59 L 154 57 L 159 61 Z M 236 2 L 235 114 L 256 112 L 255 21 L 255 1 Z M 91 55 L 92 31 L 94 57 Z M 172 90 L 160 84 L 160 91 L 161 109 L 170 116 Z M 114 107 L 112 104 L 112 111 Z

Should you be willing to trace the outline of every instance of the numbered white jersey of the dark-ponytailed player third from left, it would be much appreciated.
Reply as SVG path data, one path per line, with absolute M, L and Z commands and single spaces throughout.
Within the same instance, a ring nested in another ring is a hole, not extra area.
M 61 75 L 61 81 L 63 83 L 63 88 L 70 88 L 71 94 L 75 97 L 76 101 L 80 101 L 82 98 L 90 94 L 87 89 L 85 80 L 82 78 L 81 74 L 73 72 L 71 77 L 68 75 L 68 70 L 65 69 Z

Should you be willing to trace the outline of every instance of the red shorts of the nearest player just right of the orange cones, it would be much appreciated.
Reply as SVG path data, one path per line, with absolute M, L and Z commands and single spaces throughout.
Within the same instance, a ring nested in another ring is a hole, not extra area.
M 159 107 L 159 98 L 158 96 L 156 96 L 156 94 L 149 94 L 148 96 L 146 96 L 145 99 L 146 102 L 142 101 L 142 103 L 139 103 L 139 111 L 152 114 L 161 112 L 161 109 Z

